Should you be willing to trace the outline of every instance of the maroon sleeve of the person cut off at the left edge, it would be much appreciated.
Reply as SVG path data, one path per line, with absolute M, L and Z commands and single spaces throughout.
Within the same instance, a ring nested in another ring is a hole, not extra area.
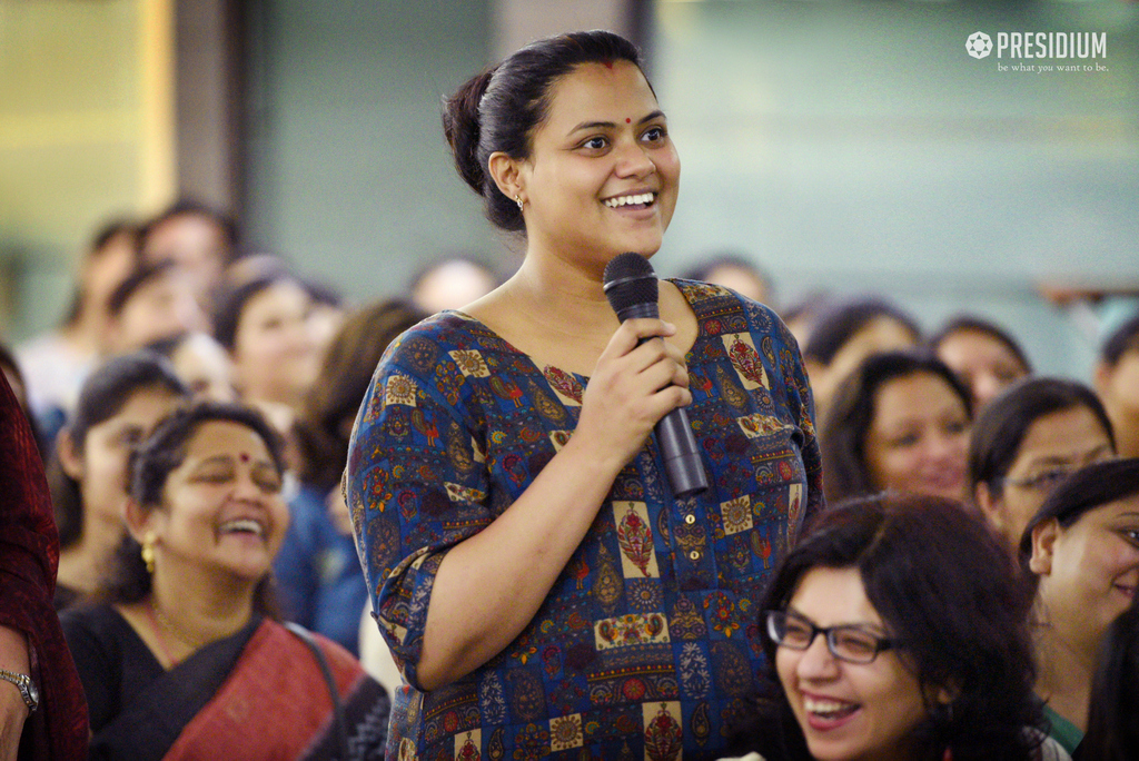
M 59 537 L 32 428 L 0 374 L 0 624 L 27 635 L 40 707 L 21 759 L 87 758 L 87 702 L 52 604 Z

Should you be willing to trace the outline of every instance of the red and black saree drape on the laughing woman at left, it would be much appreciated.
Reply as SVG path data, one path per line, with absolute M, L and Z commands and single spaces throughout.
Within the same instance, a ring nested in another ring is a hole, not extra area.
M 156 678 L 92 739 L 91 758 L 382 758 L 390 709 L 384 688 L 342 647 L 317 639 L 339 695 L 344 735 L 312 650 L 281 624 L 264 620 Z

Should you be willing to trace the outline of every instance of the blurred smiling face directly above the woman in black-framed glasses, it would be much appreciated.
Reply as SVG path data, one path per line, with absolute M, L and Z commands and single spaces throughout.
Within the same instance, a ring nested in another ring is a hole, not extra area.
M 915 373 L 888 380 L 874 400 L 866 464 L 874 484 L 964 499 L 969 418 L 944 378 Z

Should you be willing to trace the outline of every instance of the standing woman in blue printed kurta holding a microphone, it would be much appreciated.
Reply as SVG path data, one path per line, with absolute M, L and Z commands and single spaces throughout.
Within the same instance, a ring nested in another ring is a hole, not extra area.
M 822 506 L 797 346 L 716 286 L 661 283 L 662 319 L 607 303 L 606 265 L 661 247 L 680 177 L 626 40 L 535 42 L 444 128 L 526 255 L 398 339 L 357 420 L 349 507 L 404 680 L 388 755 L 718 758 L 763 582 Z M 678 407 L 708 481 L 680 498 L 650 435 Z

